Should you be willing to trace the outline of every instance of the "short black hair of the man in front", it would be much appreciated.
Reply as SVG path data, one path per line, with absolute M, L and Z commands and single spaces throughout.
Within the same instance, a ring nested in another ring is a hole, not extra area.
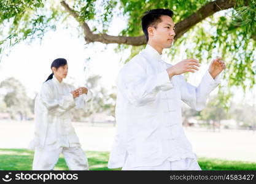
M 160 23 L 161 15 L 168 15 L 169 17 L 173 17 L 173 11 L 170 9 L 153 9 L 144 12 L 141 25 L 147 42 L 149 41 L 149 34 L 147 33 L 147 28 L 149 28 L 149 26 L 155 26 Z

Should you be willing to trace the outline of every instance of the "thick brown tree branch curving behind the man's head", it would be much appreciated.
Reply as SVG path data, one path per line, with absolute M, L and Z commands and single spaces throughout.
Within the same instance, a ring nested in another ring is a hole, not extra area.
M 177 40 L 180 36 L 186 33 L 190 28 L 195 26 L 200 21 L 205 18 L 213 15 L 215 12 L 220 10 L 230 9 L 235 6 L 235 0 L 216 0 L 209 2 L 205 6 L 201 7 L 198 11 L 188 16 L 184 20 L 176 24 L 176 37 Z M 85 41 L 87 44 L 91 42 L 102 42 L 103 44 L 126 44 L 126 45 L 144 45 L 146 44 L 145 36 L 111 36 L 109 34 L 94 34 L 91 32 L 90 27 L 85 21 L 79 19 L 79 15 L 75 10 L 72 10 L 71 7 L 65 2 L 61 1 L 61 5 L 64 9 L 72 15 L 82 26 L 83 33 L 85 34 Z

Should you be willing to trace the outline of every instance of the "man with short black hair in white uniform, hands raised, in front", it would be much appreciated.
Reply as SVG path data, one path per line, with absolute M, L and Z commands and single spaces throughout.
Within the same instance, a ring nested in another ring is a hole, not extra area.
M 212 60 L 200 85 L 180 74 L 195 72 L 196 59 L 172 66 L 161 59 L 175 32 L 169 9 L 154 9 L 142 17 L 147 45 L 126 63 L 117 77 L 117 135 L 109 168 L 122 170 L 201 170 L 182 128 L 181 101 L 202 110 L 209 93 L 219 85 L 225 69 L 221 58 Z

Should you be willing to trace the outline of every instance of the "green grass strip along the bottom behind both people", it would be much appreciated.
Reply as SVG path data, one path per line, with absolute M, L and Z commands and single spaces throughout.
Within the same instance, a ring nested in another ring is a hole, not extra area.
M 114 170 L 107 168 L 109 152 L 85 151 L 90 170 Z M 26 149 L 0 149 L 0 170 L 31 170 L 33 151 Z M 256 163 L 243 161 L 227 161 L 222 159 L 199 158 L 198 163 L 202 170 L 256 170 Z M 68 170 L 63 155 L 60 156 L 55 170 Z M 120 170 L 120 169 L 115 169 Z

